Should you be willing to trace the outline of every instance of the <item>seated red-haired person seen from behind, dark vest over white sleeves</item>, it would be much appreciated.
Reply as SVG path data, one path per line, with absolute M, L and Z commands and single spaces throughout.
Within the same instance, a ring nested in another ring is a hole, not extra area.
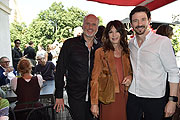
M 17 95 L 15 110 L 42 106 L 39 103 L 42 76 L 31 74 L 32 63 L 27 58 L 19 61 L 17 69 L 21 77 L 15 77 L 11 81 L 11 87 Z

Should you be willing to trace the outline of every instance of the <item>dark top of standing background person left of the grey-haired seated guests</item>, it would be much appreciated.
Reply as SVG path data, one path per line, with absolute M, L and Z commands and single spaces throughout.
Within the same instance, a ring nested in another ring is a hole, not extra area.
M 34 48 L 29 46 L 24 50 L 24 55 L 27 55 L 26 58 L 35 60 L 36 52 L 35 52 Z

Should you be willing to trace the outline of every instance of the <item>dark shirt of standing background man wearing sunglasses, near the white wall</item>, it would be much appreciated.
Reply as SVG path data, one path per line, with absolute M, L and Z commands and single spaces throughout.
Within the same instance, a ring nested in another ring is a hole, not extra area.
M 14 47 L 12 50 L 13 67 L 17 71 L 17 64 L 22 57 L 22 52 L 19 48 Z

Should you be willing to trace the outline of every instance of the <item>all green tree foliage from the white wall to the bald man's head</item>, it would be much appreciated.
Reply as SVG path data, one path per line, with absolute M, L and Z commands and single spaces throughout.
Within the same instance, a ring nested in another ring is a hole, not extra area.
M 73 37 L 74 28 L 82 26 L 83 18 L 87 13 L 76 7 L 65 9 L 61 2 L 54 2 L 48 9 L 41 11 L 28 27 L 25 23 L 12 23 L 11 42 L 20 39 L 23 43 L 22 49 L 29 41 L 34 42 L 36 49 L 39 43 L 46 47 L 55 40 L 62 42 Z M 101 17 L 100 23 L 102 24 Z

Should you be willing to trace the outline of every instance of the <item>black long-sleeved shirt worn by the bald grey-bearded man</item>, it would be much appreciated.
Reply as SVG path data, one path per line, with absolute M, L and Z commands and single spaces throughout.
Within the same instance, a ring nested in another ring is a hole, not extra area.
M 86 41 L 82 36 L 68 39 L 64 42 L 61 49 L 55 74 L 55 96 L 63 98 L 64 75 L 67 79 L 68 96 L 74 99 L 85 101 L 88 80 L 91 79 L 91 72 L 94 64 L 95 50 L 100 44 L 93 43 L 90 53 L 89 69 L 89 50 Z

